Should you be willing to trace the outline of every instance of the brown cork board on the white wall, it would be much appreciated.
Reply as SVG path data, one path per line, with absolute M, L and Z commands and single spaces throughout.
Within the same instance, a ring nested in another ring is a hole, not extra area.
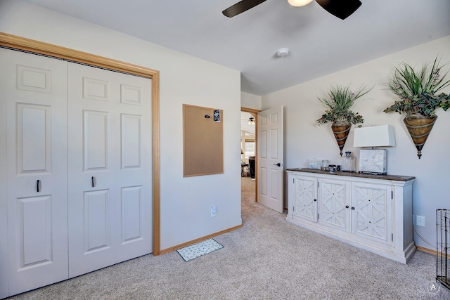
M 224 173 L 223 111 L 183 105 L 183 176 Z

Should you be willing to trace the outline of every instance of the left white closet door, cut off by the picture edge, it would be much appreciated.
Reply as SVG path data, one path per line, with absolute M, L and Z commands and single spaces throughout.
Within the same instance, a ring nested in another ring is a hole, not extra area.
M 0 66 L 7 157 L 0 171 L 6 172 L 0 211 L 2 219 L 7 211 L 8 228 L 8 254 L 4 246 L 0 253 L 4 296 L 4 282 L 11 295 L 68 278 L 67 65 L 0 48 Z M 4 234 L 2 229 L 1 241 Z

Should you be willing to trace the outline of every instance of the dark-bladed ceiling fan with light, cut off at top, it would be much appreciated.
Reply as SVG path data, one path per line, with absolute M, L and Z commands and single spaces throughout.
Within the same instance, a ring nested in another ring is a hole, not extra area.
M 237 4 L 226 8 L 226 10 L 222 11 L 222 13 L 227 17 L 232 18 L 235 15 L 262 4 L 264 1 L 266 0 L 242 0 Z M 304 6 L 309 4 L 311 1 L 312 0 L 288 0 L 289 4 L 292 6 Z M 316 0 L 316 2 L 328 11 L 328 13 L 331 13 L 342 20 L 354 13 L 356 9 L 361 6 L 361 1 L 359 0 Z

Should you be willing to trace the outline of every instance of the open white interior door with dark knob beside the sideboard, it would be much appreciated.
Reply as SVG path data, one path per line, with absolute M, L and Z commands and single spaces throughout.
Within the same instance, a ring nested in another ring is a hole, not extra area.
M 283 212 L 283 106 L 258 112 L 258 202 Z

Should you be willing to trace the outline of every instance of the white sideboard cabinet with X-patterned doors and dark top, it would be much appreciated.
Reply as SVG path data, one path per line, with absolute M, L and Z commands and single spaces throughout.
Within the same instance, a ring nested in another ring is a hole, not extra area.
M 287 173 L 286 221 L 401 263 L 416 251 L 414 177 L 314 169 Z

